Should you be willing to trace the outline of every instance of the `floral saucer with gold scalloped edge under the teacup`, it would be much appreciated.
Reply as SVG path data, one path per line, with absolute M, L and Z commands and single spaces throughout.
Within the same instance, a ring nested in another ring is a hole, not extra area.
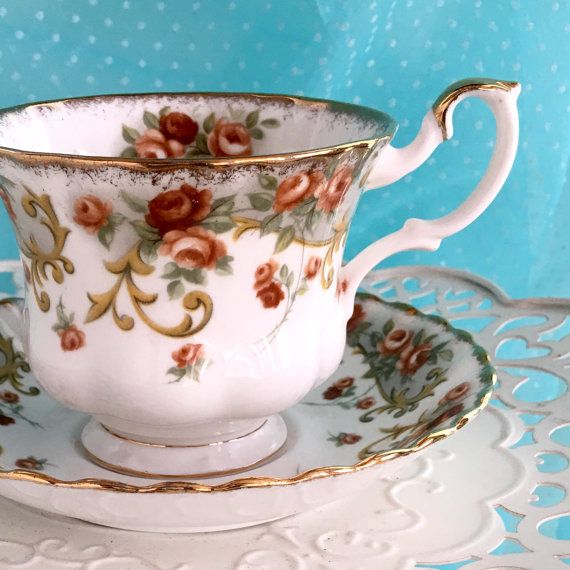
M 288 440 L 240 477 L 144 481 L 92 463 L 87 416 L 38 389 L 0 322 L 0 495 L 129 530 L 203 532 L 345 497 L 451 436 L 489 401 L 495 373 L 471 335 L 409 305 L 359 295 L 336 373 L 282 414 Z

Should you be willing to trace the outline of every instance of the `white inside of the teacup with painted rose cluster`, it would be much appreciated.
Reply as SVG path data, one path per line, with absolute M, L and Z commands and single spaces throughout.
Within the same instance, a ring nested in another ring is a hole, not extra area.
M 0 112 L 0 147 L 127 159 L 266 156 L 392 136 L 359 105 L 282 95 L 109 95 Z

